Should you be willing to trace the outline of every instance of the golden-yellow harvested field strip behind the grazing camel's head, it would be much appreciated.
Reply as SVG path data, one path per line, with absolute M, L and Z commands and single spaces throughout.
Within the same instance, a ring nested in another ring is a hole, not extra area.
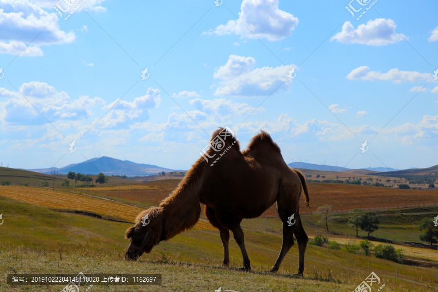
M 85 195 L 27 186 L 0 186 L 0 196 L 41 207 L 88 211 L 100 215 L 115 216 L 129 221 L 134 221 L 137 215 L 144 210 L 143 208 L 91 198 Z M 199 220 L 195 228 L 215 229 L 205 220 Z

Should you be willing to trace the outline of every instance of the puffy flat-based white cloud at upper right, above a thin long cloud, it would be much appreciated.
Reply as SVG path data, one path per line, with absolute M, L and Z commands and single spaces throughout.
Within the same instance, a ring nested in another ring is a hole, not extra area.
M 399 35 L 394 28 L 397 25 L 394 20 L 376 18 L 368 20 L 366 24 L 360 24 L 354 29 L 351 22 L 346 21 L 342 26 L 342 31 L 331 37 L 330 40 L 337 40 L 347 44 L 364 44 L 369 46 L 385 46 L 403 40 L 403 35 Z

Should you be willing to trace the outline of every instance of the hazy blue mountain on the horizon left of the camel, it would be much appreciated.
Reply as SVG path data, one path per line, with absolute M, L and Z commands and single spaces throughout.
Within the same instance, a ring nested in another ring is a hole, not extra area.
M 36 172 L 57 171 L 59 174 L 67 174 L 70 171 L 80 172 L 85 174 L 99 174 L 103 172 L 105 175 L 127 175 L 127 176 L 147 176 L 154 175 L 159 172 L 175 171 L 173 169 L 164 168 L 152 164 L 138 164 L 128 160 L 119 160 L 107 156 L 100 158 L 92 158 L 77 164 L 70 164 L 61 168 L 52 169 L 29 169 Z

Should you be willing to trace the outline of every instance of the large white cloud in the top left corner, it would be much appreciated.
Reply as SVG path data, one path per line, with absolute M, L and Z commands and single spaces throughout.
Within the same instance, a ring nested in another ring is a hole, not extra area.
M 53 5 L 53 3 L 52 3 Z M 66 33 L 59 28 L 55 13 L 48 13 L 28 0 L 0 0 L 0 53 L 18 55 L 43 55 L 42 45 L 71 43 L 73 32 Z

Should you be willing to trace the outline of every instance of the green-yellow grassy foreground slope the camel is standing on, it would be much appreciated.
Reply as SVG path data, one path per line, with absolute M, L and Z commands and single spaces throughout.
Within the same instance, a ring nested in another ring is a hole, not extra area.
M 250 231 L 245 232 L 253 268 L 250 273 L 238 271 L 242 257 L 233 239 L 230 268 L 221 267 L 219 232 L 207 230 L 184 232 L 162 242 L 137 262 L 127 262 L 123 259 L 128 246 L 124 232 L 130 224 L 56 212 L 1 197 L 0 210 L 4 210 L 4 223 L 0 225 L 1 285 L 8 273 L 159 273 L 163 274 L 162 286 L 140 289 L 214 291 L 223 286 L 237 291 L 352 291 L 373 271 L 385 283 L 384 291 L 437 291 L 438 287 L 427 286 L 433 285 L 436 269 L 403 266 L 362 255 L 348 255 L 347 261 L 344 252 L 316 246 L 308 246 L 304 277 L 294 276 L 298 266 L 296 245 L 277 274 L 265 274 L 263 271 L 269 270 L 278 256 L 281 236 Z M 4 287 L 6 291 L 41 291 L 39 286 Z M 60 291 L 63 287 L 49 288 L 45 291 Z M 138 290 L 133 286 L 99 285 L 92 291 Z

